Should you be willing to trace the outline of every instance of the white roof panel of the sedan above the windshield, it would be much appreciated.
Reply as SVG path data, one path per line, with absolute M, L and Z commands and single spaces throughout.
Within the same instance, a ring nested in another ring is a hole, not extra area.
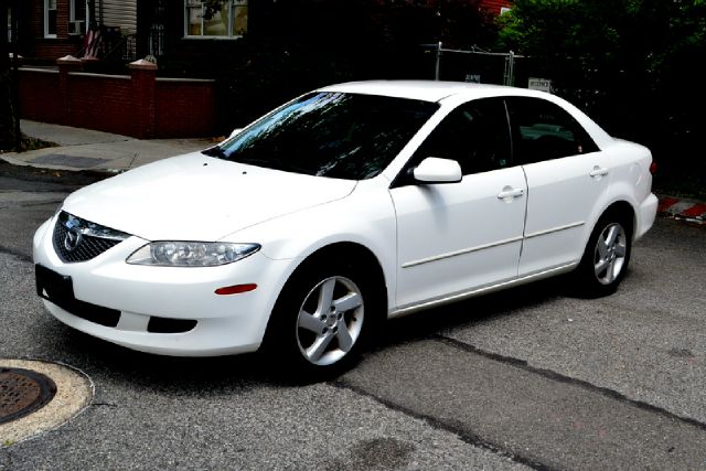
M 422 101 L 440 101 L 453 96 L 482 98 L 499 95 L 534 94 L 523 88 L 490 84 L 469 84 L 464 82 L 437 81 L 368 81 L 350 82 L 320 88 L 320 92 L 342 92 L 364 95 L 381 95 L 396 98 L 419 99 Z

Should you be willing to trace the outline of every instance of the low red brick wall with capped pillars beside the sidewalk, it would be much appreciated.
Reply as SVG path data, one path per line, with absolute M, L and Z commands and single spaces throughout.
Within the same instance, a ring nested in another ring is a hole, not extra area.
M 60 71 L 21 68 L 21 117 L 140 139 L 214 132 L 213 81 L 156 79 L 154 69 L 140 67 L 131 76 L 86 74 L 81 67 L 74 61 Z

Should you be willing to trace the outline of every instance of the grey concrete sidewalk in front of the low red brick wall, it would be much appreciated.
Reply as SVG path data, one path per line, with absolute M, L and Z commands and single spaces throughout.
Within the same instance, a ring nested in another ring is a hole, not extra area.
M 28 152 L 0 153 L 0 159 L 15 165 L 56 170 L 92 170 L 118 173 L 168 157 L 211 147 L 212 139 L 139 140 L 127 136 L 44 122 L 21 121 L 22 132 L 58 147 Z

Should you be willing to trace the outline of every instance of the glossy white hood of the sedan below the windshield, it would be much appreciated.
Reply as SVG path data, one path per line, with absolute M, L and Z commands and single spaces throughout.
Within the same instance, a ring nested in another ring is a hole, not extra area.
M 254 224 L 345 197 L 355 184 L 194 152 L 78 190 L 63 210 L 148 240 L 218 240 Z

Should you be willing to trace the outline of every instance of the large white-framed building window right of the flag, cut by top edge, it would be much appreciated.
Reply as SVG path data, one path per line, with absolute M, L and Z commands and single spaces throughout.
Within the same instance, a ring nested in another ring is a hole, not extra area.
M 247 32 L 247 0 L 185 0 L 184 36 L 240 38 Z

